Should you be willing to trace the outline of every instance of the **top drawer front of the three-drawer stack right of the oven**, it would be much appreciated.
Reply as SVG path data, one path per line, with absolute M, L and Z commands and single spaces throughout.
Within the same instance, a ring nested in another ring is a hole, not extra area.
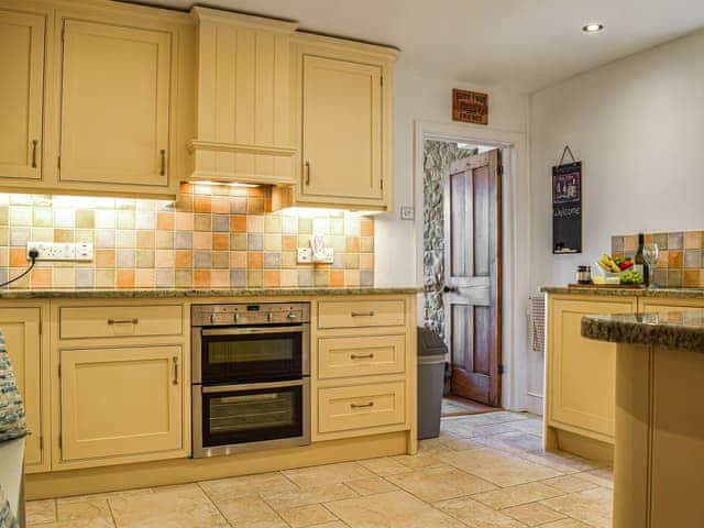
M 321 301 L 318 328 L 395 327 L 406 323 L 403 300 Z

